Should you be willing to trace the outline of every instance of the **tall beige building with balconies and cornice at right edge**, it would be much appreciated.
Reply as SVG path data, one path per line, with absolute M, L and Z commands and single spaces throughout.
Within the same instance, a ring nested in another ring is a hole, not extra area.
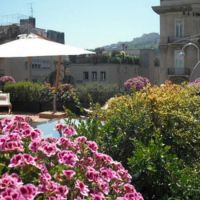
M 160 79 L 174 82 L 200 76 L 200 0 L 161 0 Z

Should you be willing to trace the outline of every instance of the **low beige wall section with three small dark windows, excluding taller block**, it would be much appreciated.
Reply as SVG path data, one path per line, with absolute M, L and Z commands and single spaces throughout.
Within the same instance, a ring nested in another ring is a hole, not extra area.
M 69 71 L 75 84 L 102 83 L 121 87 L 127 79 L 138 75 L 137 65 L 71 64 Z

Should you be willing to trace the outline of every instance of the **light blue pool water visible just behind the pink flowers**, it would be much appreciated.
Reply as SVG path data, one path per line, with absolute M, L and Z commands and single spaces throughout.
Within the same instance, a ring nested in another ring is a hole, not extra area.
M 40 129 L 43 133 L 42 137 L 44 137 L 44 138 L 47 138 L 47 137 L 58 138 L 58 137 L 60 137 L 60 135 L 59 135 L 58 131 L 55 129 L 55 126 L 57 123 L 66 124 L 65 120 L 61 119 L 61 120 L 50 120 L 48 122 L 33 124 L 33 127 Z M 79 120 L 74 119 L 73 123 L 78 124 Z

